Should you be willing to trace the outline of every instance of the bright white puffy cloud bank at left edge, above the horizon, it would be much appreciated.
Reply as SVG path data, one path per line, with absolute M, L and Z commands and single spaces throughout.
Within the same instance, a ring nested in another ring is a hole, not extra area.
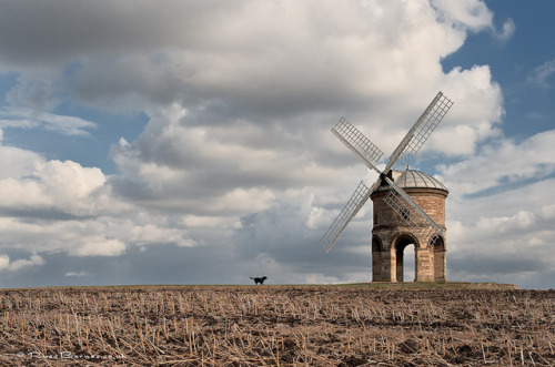
M 183 225 L 113 195 L 104 174 L 72 161 L 0 145 L 0 228 L 3 248 L 118 256 L 127 244 L 183 244 Z M 99 236 L 99 233 L 105 235 Z M 18 261 L 10 267 L 23 266 Z M 19 265 L 18 265 L 19 264 Z

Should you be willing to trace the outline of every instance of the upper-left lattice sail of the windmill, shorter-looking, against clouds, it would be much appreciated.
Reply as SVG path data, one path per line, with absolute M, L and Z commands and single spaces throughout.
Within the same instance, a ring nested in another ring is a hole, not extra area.
M 383 152 L 375 146 L 366 136 L 363 135 L 355 126 L 353 126 L 345 118 L 342 118 L 335 126 L 332 128 L 332 133 L 337 136 L 367 167 L 377 170 L 376 165 L 383 156 Z

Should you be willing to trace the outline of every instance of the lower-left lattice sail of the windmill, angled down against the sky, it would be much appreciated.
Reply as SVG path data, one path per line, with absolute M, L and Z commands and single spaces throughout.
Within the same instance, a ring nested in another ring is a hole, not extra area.
M 364 182 L 361 181 L 345 207 L 343 207 L 340 215 L 337 215 L 333 224 L 320 241 L 320 244 L 324 247 L 326 253 L 333 247 L 335 241 L 337 241 L 337 237 L 343 230 L 345 230 L 349 222 L 351 222 L 361 207 L 366 203 L 370 194 L 370 188 L 364 184 Z

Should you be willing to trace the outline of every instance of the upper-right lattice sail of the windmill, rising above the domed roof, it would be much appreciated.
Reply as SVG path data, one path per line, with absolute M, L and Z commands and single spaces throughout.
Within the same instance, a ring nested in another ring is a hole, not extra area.
M 453 101 L 438 92 L 390 156 L 384 172 L 387 173 L 393 165 L 401 171 L 405 170 L 452 105 Z

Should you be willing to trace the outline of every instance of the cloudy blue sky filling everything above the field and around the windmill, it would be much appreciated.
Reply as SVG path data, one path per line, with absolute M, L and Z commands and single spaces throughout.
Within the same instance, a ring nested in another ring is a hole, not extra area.
M 438 91 L 447 278 L 554 287 L 555 2 L 0 9 L 0 287 L 370 282 L 371 202 L 320 246 L 377 179 L 330 129 L 389 156 Z

